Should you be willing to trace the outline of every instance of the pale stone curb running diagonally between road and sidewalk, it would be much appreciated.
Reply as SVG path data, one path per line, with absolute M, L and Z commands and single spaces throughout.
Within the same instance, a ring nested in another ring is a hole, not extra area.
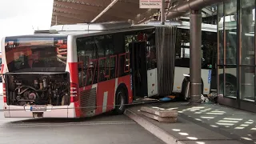
M 125 114 L 144 129 L 148 130 L 151 134 L 154 134 L 154 136 L 161 139 L 163 142 L 166 142 L 167 144 L 185 144 L 184 142 L 179 141 L 178 138 L 175 138 L 173 135 L 167 133 L 165 130 L 155 126 L 153 123 L 147 121 L 138 114 L 135 114 L 132 110 L 126 109 Z

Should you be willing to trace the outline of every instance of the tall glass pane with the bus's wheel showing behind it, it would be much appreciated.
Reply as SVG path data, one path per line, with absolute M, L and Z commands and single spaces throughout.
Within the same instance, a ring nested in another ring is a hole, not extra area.
M 220 92 L 224 94 L 224 97 L 237 98 L 237 50 L 238 50 L 238 37 L 237 37 L 237 0 L 230 0 L 224 2 L 224 65 L 222 74 L 219 75 Z M 220 50 L 222 50 L 220 48 Z M 222 82 L 224 79 L 224 82 Z

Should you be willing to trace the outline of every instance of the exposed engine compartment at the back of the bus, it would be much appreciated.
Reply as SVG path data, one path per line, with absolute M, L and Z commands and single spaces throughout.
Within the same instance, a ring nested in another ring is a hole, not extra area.
M 8 105 L 63 106 L 70 102 L 68 73 L 7 73 L 5 82 Z

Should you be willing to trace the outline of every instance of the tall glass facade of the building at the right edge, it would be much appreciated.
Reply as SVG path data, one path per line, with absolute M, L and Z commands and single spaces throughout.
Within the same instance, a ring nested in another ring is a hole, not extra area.
M 218 4 L 218 94 L 255 103 L 255 0 Z

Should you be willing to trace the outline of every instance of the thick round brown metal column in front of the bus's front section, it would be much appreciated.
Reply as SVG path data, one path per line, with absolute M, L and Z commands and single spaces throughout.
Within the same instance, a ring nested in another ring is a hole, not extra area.
M 202 11 L 190 10 L 190 104 L 201 102 Z

